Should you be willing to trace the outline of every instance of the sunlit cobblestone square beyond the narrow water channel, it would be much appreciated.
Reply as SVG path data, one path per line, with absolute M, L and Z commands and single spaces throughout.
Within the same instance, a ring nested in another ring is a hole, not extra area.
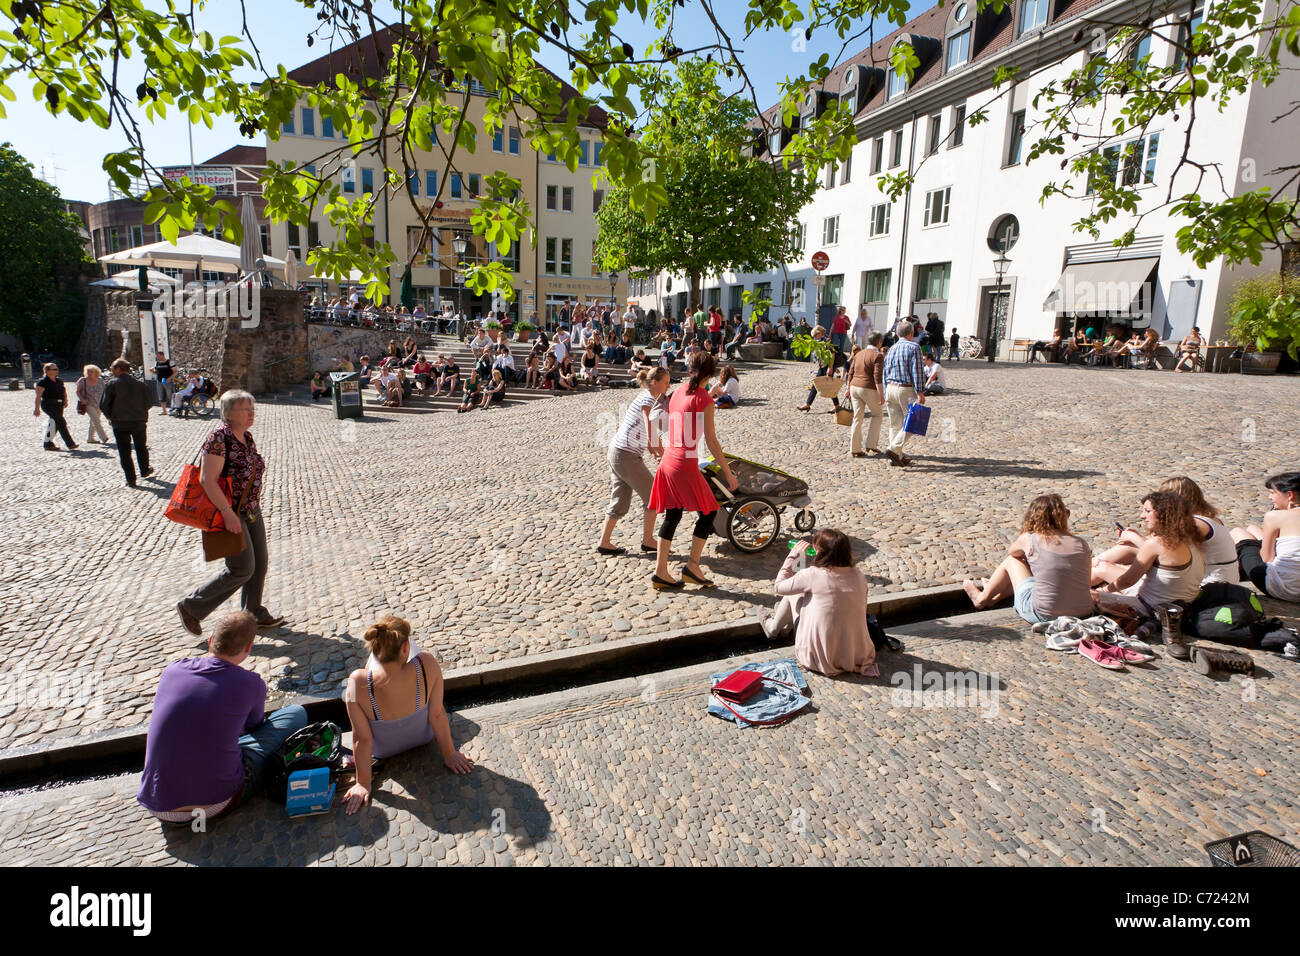
M 932 402 L 932 437 L 900 470 L 850 458 L 849 429 L 794 410 L 809 376 L 794 364 L 746 375 L 749 403 L 719 412 L 720 438 L 806 479 L 819 525 L 853 536 L 876 589 L 987 572 L 1041 492 L 1061 492 L 1100 545 L 1165 476 L 1192 475 L 1243 523 L 1265 506 L 1264 476 L 1300 466 L 1300 421 L 1279 414 L 1300 407 L 1300 378 L 959 363 L 956 392 Z M 708 593 L 654 592 L 649 559 L 594 553 L 604 449 L 632 394 L 360 421 L 324 403 L 261 403 L 266 604 L 290 622 L 254 650 L 273 695 L 334 693 L 387 611 L 455 669 L 771 604 L 781 544 L 757 557 L 710 545 Z M 174 605 L 212 571 L 196 533 L 162 518 L 208 424 L 156 415 L 160 481 L 130 490 L 112 447 L 42 451 L 31 407 L 30 392 L 0 392 L 0 661 L 21 688 L 0 695 L 0 748 L 143 723 L 161 669 L 196 646 Z M 633 549 L 634 523 L 619 529 Z

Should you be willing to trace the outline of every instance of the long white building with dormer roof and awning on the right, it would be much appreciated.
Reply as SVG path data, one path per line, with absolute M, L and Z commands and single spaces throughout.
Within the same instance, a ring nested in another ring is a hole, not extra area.
M 1069 176 L 1060 168 L 1062 157 L 1024 161 L 1036 138 L 1032 126 L 1043 116 L 1034 108 L 1035 94 L 1087 62 L 1095 27 L 1138 22 L 1149 9 L 1134 0 L 1013 0 L 996 14 L 976 13 L 974 3 L 958 0 L 922 13 L 841 64 L 827 78 L 826 92 L 810 95 L 805 116 L 824 108 L 829 96 L 852 98 L 858 107 L 858 142 L 849 163 L 822 170 L 822 186 L 800 217 L 802 256 L 784 273 L 708 277 L 705 302 L 731 315 L 741 311 L 744 289 L 768 284 L 774 315 L 789 311 L 812 321 L 819 289 L 810 258 L 823 251 L 829 258 L 820 286 L 823 321 L 835 304 L 848 306 L 850 315 L 866 307 L 881 330 L 900 315 L 924 319 L 937 312 L 949 332 L 985 339 L 1001 297 L 1001 354 L 1013 339 L 1050 337 L 1058 324 L 1070 330 L 1100 330 L 1112 321 L 1150 325 L 1162 339 L 1178 339 L 1199 325 L 1212 339 L 1226 337 L 1223 312 L 1232 285 L 1275 272 L 1277 254 L 1260 267 L 1199 268 L 1191 255 L 1178 251 L 1175 233 L 1183 222 L 1164 211 L 1136 224 L 1136 241 L 1126 248 L 1112 241 L 1134 228 L 1132 216 L 1105 224 L 1097 242 L 1072 228 L 1091 209 L 1091 198 L 1052 196 L 1040 203 L 1048 182 Z M 1178 35 L 1187 29 L 1187 4 L 1179 0 L 1170 9 L 1179 13 L 1169 14 L 1170 26 L 1161 33 Z M 1178 55 L 1174 44 L 1160 39 L 1119 49 L 1114 29 L 1108 34 L 1110 56 L 1149 56 L 1148 62 L 1158 66 Z M 920 59 L 910 85 L 889 68 L 889 51 L 901 39 Z M 994 70 L 1004 64 L 1020 68 L 1017 83 L 993 90 Z M 1222 113 L 1205 103 L 1197 111 L 1190 156 L 1221 164 L 1234 194 L 1268 183 L 1269 170 L 1294 161 L 1288 156 L 1294 135 L 1270 121 L 1297 94 L 1295 75 L 1283 73 L 1273 86 L 1257 85 L 1236 96 Z M 988 122 L 962 122 L 984 105 Z M 1109 129 L 1117 108 L 1108 109 Z M 1160 118 L 1128 163 L 1115 153 L 1115 176 L 1139 186 L 1139 212 L 1165 202 L 1187 118 L 1187 111 L 1178 120 Z M 1295 120 L 1291 124 L 1294 134 Z M 757 148 L 758 155 L 779 151 L 794 131 L 775 134 Z M 890 203 L 879 189 L 879 176 L 900 170 L 914 172 L 915 185 Z M 1078 183 L 1080 177 L 1072 179 Z M 1195 170 L 1182 170 L 1174 195 L 1195 189 Z M 1201 194 L 1213 195 L 1208 183 Z M 994 272 L 1000 250 L 1010 260 L 1001 284 Z M 686 287 L 682 276 L 659 277 L 653 300 L 645 302 L 680 315 Z

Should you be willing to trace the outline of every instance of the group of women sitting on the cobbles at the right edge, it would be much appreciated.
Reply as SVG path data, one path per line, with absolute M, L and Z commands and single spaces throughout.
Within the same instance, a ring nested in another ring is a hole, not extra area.
M 1264 485 L 1273 510 L 1260 525 L 1228 531 L 1192 479 L 1169 479 L 1141 499 L 1143 531 L 1117 522 L 1115 544 L 1096 557 L 1070 532 L 1061 496 L 1040 494 L 993 575 L 962 587 L 978 609 L 1014 598 L 1031 623 L 1108 607 L 1152 618 L 1196 600 L 1209 581 L 1249 581 L 1269 597 L 1300 602 L 1300 472 Z

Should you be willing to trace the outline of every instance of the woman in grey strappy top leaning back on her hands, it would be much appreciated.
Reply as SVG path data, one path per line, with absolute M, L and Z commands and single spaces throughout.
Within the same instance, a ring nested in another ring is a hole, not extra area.
M 352 671 L 343 689 L 356 760 L 356 783 L 343 797 L 348 814 L 370 800 L 372 757 L 394 757 L 437 739 L 448 770 L 468 774 L 474 766 L 451 740 L 442 669 L 433 654 L 411 654 L 410 624 L 402 628 L 398 620 L 386 618 L 365 632 L 373 663 Z

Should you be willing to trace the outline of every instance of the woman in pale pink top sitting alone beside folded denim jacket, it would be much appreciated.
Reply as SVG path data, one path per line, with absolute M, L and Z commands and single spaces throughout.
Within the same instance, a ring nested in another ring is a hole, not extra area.
M 812 546 L 809 567 L 796 570 Z M 794 627 L 796 659 L 818 674 L 879 676 L 876 648 L 867 632 L 867 579 L 854 567 L 849 538 L 823 528 L 800 541 L 776 574 L 776 611 L 759 609 L 763 632 L 779 637 Z

